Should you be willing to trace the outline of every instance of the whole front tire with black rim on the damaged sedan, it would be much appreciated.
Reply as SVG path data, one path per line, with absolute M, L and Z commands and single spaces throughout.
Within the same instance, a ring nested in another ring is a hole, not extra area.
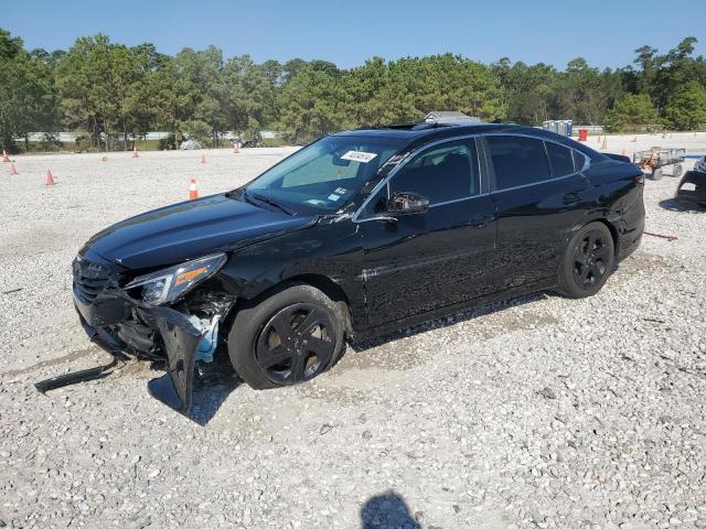
M 228 355 L 254 389 L 304 382 L 321 375 L 344 347 L 340 304 L 309 284 L 280 290 L 242 309 L 228 335 Z

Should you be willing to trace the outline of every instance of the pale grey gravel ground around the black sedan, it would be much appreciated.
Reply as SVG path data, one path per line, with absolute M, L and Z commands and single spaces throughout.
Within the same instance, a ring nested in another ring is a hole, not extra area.
M 304 386 L 221 380 L 195 396 L 204 425 L 148 397 L 148 363 L 36 392 L 107 359 L 71 302 L 92 234 L 290 149 L 202 152 L 2 169 L 0 527 L 706 528 L 706 213 L 666 176 L 646 183 L 648 229 L 678 240 L 645 237 L 595 298 L 524 296 L 359 344 Z

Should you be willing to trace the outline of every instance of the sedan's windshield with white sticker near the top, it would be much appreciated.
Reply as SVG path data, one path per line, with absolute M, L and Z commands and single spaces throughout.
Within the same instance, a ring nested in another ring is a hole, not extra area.
M 371 180 L 405 142 L 329 136 L 250 182 L 247 196 L 308 212 L 334 212 Z

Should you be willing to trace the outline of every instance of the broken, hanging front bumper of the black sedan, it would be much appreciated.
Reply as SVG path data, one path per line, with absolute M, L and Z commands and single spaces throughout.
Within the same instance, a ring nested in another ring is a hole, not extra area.
M 129 296 L 108 272 L 93 282 L 77 281 L 75 274 L 73 291 L 74 305 L 90 341 L 116 360 L 108 366 L 38 382 L 36 388 L 46 391 L 103 378 L 117 360 L 128 356 L 163 360 L 167 374 L 150 380 L 148 390 L 170 408 L 188 414 L 195 364 L 213 360 L 220 344 L 218 327 L 235 303 L 235 296 L 199 287 L 172 305 L 151 305 Z

